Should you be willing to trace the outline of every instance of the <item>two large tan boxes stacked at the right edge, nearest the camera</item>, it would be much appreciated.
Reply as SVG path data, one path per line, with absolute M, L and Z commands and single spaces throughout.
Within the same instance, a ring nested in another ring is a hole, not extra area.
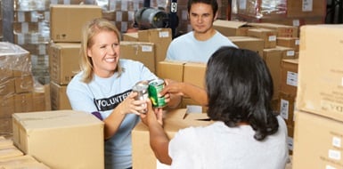
M 293 168 L 341 168 L 343 25 L 300 33 Z

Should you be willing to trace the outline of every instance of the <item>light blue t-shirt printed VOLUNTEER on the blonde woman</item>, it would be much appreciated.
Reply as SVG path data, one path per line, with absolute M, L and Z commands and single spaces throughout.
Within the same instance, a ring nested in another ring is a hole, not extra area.
M 72 78 L 67 86 L 67 95 L 72 109 L 88 113 L 98 111 L 105 119 L 121 101 L 127 98 L 137 82 L 157 78 L 139 61 L 119 61 L 121 67 L 124 68 L 119 77 L 117 73 L 109 78 L 94 75 L 94 79 L 86 84 L 81 81 L 83 75 L 81 71 Z M 105 168 L 120 169 L 132 166 L 131 131 L 139 120 L 139 116 L 127 114 L 118 132 L 105 141 Z

